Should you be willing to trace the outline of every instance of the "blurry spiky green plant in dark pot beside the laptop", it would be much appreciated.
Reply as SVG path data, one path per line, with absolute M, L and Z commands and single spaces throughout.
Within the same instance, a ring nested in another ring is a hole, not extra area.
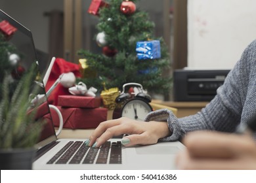
M 37 64 L 35 64 L 37 65 Z M 35 144 L 43 123 L 36 122 L 36 109 L 32 106 L 35 65 L 24 73 L 14 91 L 10 90 L 8 76 L 1 83 L 0 96 L 0 168 L 32 169 Z

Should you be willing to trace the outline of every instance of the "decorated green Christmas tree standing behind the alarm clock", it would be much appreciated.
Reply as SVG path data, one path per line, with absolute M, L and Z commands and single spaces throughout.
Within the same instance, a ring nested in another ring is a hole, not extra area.
M 95 39 L 102 47 L 102 54 L 78 52 L 98 75 L 81 79 L 89 86 L 102 90 L 104 83 L 106 89 L 121 90 L 123 84 L 136 82 L 151 93 L 169 91 L 171 78 L 163 76 L 163 69 L 170 65 L 167 46 L 161 37 L 154 37 L 154 22 L 149 20 L 147 12 L 136 7 L 136 2 L 91 2 L 89 12 L 98 16 Z

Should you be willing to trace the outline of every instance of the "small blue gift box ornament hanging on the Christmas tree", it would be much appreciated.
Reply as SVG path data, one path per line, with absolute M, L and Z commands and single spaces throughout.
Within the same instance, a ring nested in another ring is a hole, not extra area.
M 139 41 L 136 44 L 136 52 L 138 59 L 161 58 L 160 41 Z

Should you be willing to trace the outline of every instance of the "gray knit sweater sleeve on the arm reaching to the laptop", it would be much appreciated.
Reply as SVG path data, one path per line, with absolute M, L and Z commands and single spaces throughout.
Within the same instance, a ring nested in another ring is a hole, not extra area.
M 145 121 L 166 121 L 172 135 L 161 141 L 177 141 L 189 131 L 215 130 L 232 132 L 246 123 L 256 111 L 256 41 L 228 73 L 215 98 L 197 114 L 176 118 L 167 109 L 150 112 Z M 256 136 L 255 136 L 256 137 Z M 254 138 L 255 138 L 254 137 Z M 255 138 L 256 139 L 256 138 Z

